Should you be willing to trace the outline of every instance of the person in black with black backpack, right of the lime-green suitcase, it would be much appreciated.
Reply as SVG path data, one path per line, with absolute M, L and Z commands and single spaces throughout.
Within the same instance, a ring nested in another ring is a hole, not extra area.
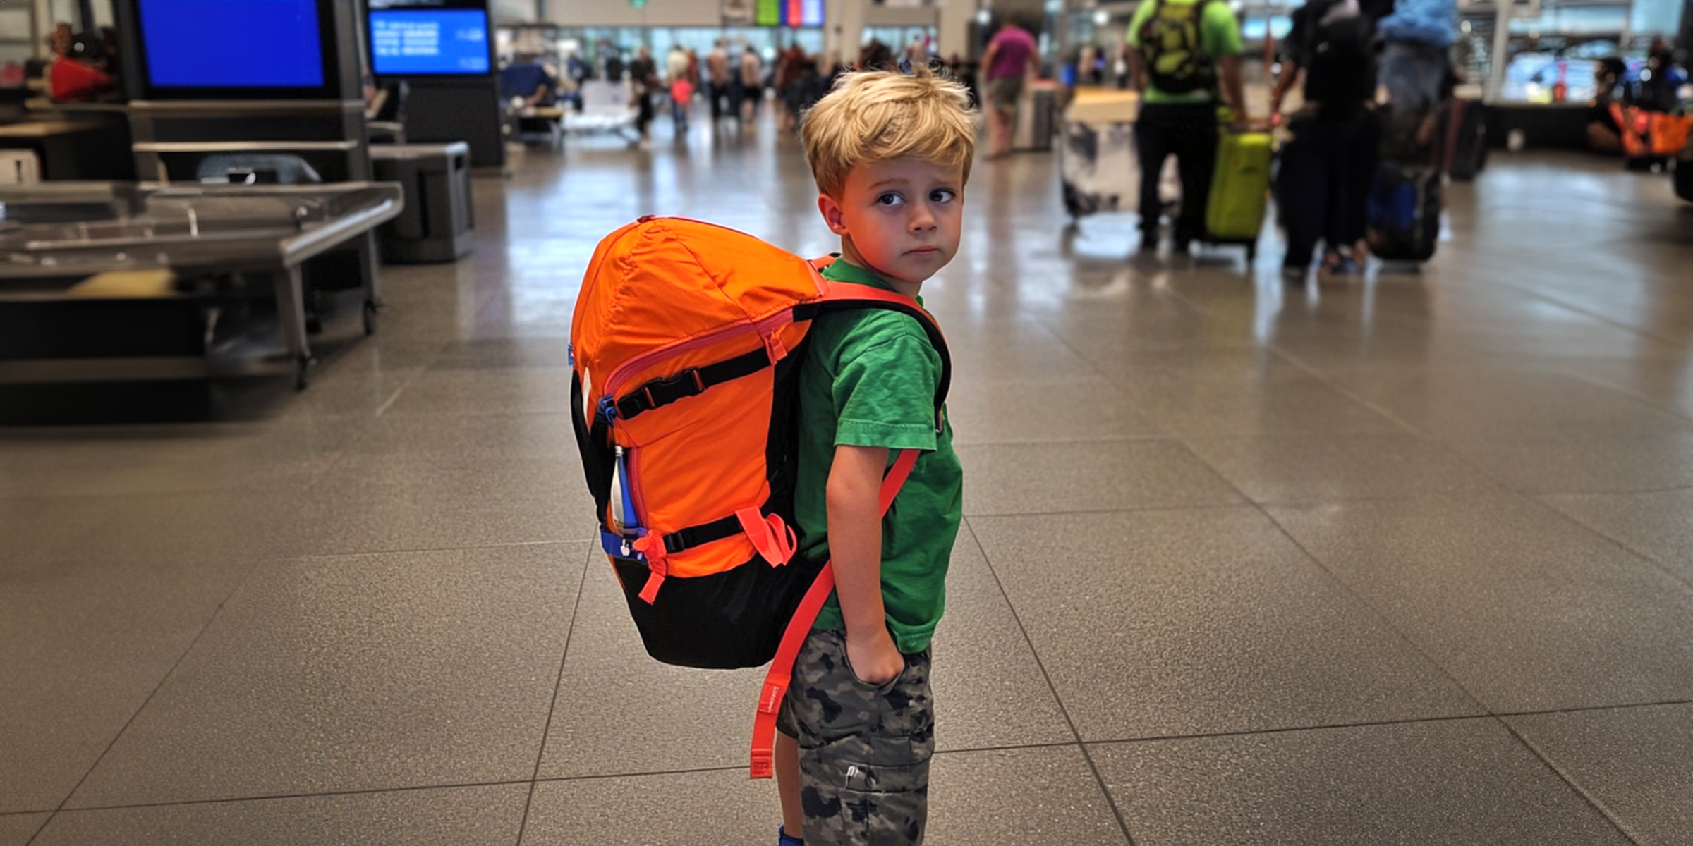
M 1287 225 L 1282 272 L 1304 281 L 1317 242 L 1327 272 L 1356 272 L 1363 255 L 1375 181 L 1380 124 L 1375 100 L 1376 32 L 1358 0 L 1310 0 L 1293 10 L 1282 44 L 1282 78 L 1270 95 L 1271 113 L 1299 78 L 1305 105 L 1288 115 L 1290 140 L 1282 147 L 1278 198 Z

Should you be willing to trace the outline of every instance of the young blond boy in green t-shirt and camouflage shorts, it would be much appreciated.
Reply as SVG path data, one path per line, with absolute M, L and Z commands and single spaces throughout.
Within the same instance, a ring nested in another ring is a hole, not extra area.
M 841 237 L 823 276 L 913 298 L 958 252 L 975 152 L 970 95 L 914 71 L 846 74 L 802 127 L 818 210 Z M 887 310 L 824 315 L 809 338 L 796 518 L 802 553 L 833 558 L 836 589 L 782 702 L 779 844 L 918 844 L 929 636 L 963 501 L 951 426 L 935 425 L 941 357 L 916 318 Z M 884 519 L 877 492 L 899 450 L 921 457 Z

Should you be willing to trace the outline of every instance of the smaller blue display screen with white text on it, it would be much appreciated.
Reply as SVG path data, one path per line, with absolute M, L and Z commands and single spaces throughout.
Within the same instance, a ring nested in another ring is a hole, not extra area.
M 481 8 L 371 10 L 371 66 L 378 76 L 486 74 L 493 69 L 488 12 Z

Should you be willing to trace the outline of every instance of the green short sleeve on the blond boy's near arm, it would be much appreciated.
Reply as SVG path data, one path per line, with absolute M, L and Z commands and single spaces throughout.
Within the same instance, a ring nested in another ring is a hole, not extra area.
M 907 327 L 894 323 L 897 328 L 867 332 L 841 347 L 835 445 L 933 450 L 941 357 L 913 318 L 889 313 L 882 320 Z

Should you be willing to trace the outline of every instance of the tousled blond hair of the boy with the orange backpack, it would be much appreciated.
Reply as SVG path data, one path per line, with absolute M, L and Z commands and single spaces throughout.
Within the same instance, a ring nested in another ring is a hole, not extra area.
M 965 86 L 921 64 L 909 76 L 857 71 L 806 112 L 799 135 L 818 190 L 830 196 L 840 195 L 857 164 L 906 156 L 957 164 L 970 181 L 975 110 Z

